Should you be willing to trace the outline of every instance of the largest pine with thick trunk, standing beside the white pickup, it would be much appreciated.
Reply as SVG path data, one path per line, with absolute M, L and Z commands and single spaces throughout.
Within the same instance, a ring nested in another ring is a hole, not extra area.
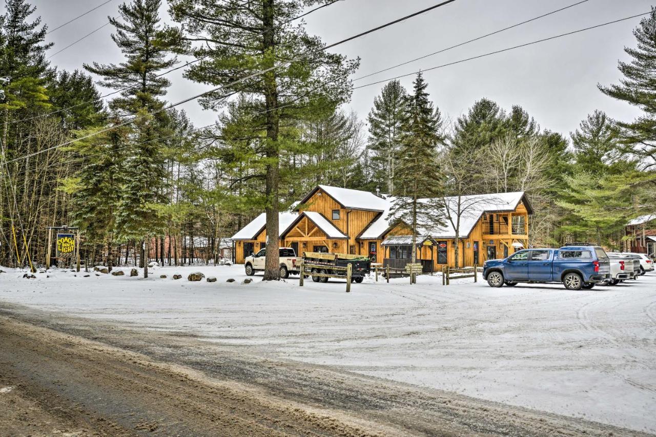
M 188 70 L 186 77 L 222 87 L 205 96 L 201 104 L 217 108 L 234 94 L 246 94 L 253 104 L 253 118 L 247 123 L 253 126 L 251 136 L 258 136 L 253 139 L 253 146 L 263 159 L 255 164 L 258 173 L 249 177 L 264 182 L 264 198 L 258 202 L 258 207 L 266 212 L 264 280 L 279 278 L 280 183 L 281 179 L 289 178 L 280 174 L 281 159 L 298 154 L 302 147 L 297 133 L 285 129 L 285 123 L 291 125 L 298 120 L 332 114 L 350 98 L 348 75 L 358 65 L 339 54 L 320 51 L 323 43 L 318 37 L 308 35 L 303 24 L 291 24 L 304 7 L 315 3 L 320 2 L 170 2 L 171 16 L 190 33 L 190 41 L 200 43 L 190 53 L 195 58 L 205 57 Z M 268 72 L 235 83 L 264 70 Z M 259 171 L 260 163 L 264 165 L 262 171 Z

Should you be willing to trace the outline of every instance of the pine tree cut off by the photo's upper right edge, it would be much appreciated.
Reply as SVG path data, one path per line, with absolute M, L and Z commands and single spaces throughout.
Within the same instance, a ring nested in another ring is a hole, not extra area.
M 632 57 L 631 62 L 618 62 L 619 71 L 624 75 L 620 85 L 604 87 L 602 93 L 637 106 L 645 114 L 627 123 L 618 121 L 621 142 L 629 151 L 645 159 L 647 168 L 656 165 L 656 8 L 640 21 L 633 31 L 638 41 L 637 48 L 626 47 L 625 52 Z

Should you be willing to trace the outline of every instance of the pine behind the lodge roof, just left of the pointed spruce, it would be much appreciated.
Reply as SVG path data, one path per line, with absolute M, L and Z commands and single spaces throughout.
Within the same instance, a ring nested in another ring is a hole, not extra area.
M 386 183 L 388 193 L 394 192 L 394 178 L 400 148 L 401 123 L 407 91 L 398 80 L 390 81 L 374 98 L 369 112 L 369 144 L 374 177 Z

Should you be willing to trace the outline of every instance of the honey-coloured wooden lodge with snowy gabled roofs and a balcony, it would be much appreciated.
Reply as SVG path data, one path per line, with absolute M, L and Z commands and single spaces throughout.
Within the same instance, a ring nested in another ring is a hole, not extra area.
M 319 185 L 293 211 L 280 213 L 280 247 L 293 247 L 299 255 L 304 251 L 365 255 L 386 266 L 403 268 L 411 262 L 411 230 L 390 219 L 392 205 L 390 196 Z M 483 264 L 528 247 L 533 210 L 523 192 L 449 198 L 447 205 L 452 215 L 461 211 L 460 266 Z M 237 264 L 265 247 L 265 224 L 262 213 L 232 237 Z M 418 237 L 417 244 L 417 262 L 422 262 L 424 272 L 455 266 L 451 224 Z

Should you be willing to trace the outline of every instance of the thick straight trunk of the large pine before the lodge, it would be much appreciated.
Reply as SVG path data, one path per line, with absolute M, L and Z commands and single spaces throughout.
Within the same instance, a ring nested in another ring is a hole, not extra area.
M 274 51 L 276 41 L 274 39 L 275 26 L 274 0 L 262 1 L 262 28 L 268 29 L 262 35 L 264 57 L 264 69 L 271 68 L 275 64 Z M 264 281 L 279 280 L 279 243 L 278 243 L 278 184 L 279 184 L 279 147 L 278 130 L 279 114 L 277 110 L 278 95 L 276 72 L 272 70 L 264 74 L 264 100 L 266 102 L 266 259 L 264 260 Z

